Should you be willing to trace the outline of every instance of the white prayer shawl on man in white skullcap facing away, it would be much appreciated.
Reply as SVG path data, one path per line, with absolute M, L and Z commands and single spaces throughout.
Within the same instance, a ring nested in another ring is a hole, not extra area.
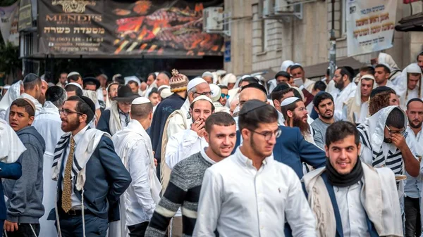
M 152 142 L 140 122 L 131 120 L 127 127 L 113 136 L 113 141 L 116 153 L 121 158 L 126 169 L 128 169 L 128 151 L 133 149 L 135 146 L 147 146 L 147 152 L 149 154 L 151 164 L 149 168 L 149 185 L 152 191 L 154 203 L 159 204 L 161 184 L 157 178 L 156 167 L 154 166 Z M 128 205 L 126 205 L 126 203 L 129 200 L 128 195 L 128 191 L 125 191 L 123 196 L 119 198 L 121 220 L 110 223 L 109 237 L 128 236 L 128 226 L 126 224 L 126 212 L 128 210 Z

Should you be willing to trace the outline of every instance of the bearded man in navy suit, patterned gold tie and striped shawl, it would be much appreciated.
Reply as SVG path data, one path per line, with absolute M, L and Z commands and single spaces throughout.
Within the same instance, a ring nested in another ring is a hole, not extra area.
M 109 134 L 87 125 L 94 111 L 85 96 L 71 96 L 60 110 L 66 134 L 54 152 L 58 192 L 56 213 L 52 210 L 49 219 L 56 214 L 63 237 L 106 236 L 108 222 L 120 217 L 118 200 L 131 182 Z

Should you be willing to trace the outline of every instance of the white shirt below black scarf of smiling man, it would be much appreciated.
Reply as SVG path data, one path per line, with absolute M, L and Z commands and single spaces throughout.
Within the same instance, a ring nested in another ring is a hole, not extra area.
M 369 236 L 366 211 L 360 200 L 362 182 L 348 187 L 333 186 L 344 237 Z

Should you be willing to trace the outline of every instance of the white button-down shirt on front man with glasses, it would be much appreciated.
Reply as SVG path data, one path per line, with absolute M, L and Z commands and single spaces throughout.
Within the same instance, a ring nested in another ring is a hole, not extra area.
M 314 215 L 293 169 L 265 158 L 257 170 L 237 148 L 206 170 L 192 236 L 316 236 Z

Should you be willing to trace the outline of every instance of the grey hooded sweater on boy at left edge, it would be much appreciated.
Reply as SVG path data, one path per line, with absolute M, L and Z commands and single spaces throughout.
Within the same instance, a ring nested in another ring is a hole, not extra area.
M 44 214 L 42 162 L 46 144 L 32 126 L 24 127 L 16 134 L 27 150 L 18 159 L 22 165 L 22 177 L 3 181 L 4 195 L 8 198 L 7 220 L 38 224 L 39 218 Z

